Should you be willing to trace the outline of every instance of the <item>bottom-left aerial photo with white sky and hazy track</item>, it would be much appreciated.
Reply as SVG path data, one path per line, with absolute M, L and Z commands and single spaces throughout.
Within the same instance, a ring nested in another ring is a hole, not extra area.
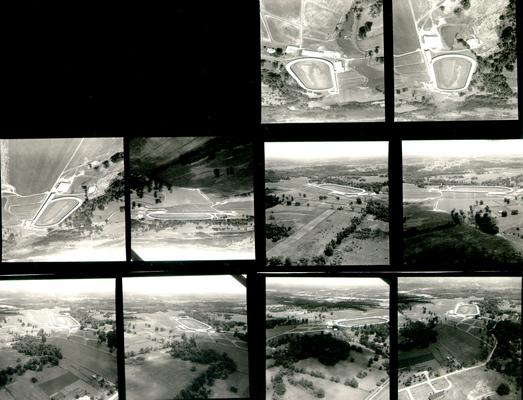
M 0 400 L 118 400 L 114 279 L 0 281 Z

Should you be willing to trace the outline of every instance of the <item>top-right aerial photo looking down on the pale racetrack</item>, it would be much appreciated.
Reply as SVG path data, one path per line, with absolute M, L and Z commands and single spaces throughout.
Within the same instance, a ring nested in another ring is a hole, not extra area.
M 516 0 L 393 0 L 396 121 L 518 119 Z

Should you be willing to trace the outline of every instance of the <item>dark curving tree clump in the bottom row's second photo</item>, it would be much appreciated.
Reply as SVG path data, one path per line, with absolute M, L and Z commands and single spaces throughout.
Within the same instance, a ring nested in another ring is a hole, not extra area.
M 208 399 L 211 393 L 210 387 L 216 379 L 227 379 L 229 374 L 235 372 L 238 367 L 234 360 L 226 353 L 218 353 L 212 349 L 199 349 L 196 339 L 187 339 L 182 334 L 181 342 L 173 342 L 169 352 L 172 357 L 199 364 L 207 364 L 209 367 L 205 372 L 193 380 L 185 389 L 182 389 L 175 399 Z M 237 390 L 237 388 L 235 388 Z M 231 390 L 234 391 L 231 387 Z

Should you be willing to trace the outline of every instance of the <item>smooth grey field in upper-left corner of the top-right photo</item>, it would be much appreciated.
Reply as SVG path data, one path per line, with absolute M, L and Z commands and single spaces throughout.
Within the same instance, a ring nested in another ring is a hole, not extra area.
M 394 54 L 404 54 L 420 47 L 410 0 L 393 0 Z

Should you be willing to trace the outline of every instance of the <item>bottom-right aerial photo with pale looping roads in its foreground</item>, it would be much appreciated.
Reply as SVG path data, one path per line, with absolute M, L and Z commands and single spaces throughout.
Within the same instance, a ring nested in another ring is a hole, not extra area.
M 521 400 L 521 277 L 398 278 L 398 400 Z

